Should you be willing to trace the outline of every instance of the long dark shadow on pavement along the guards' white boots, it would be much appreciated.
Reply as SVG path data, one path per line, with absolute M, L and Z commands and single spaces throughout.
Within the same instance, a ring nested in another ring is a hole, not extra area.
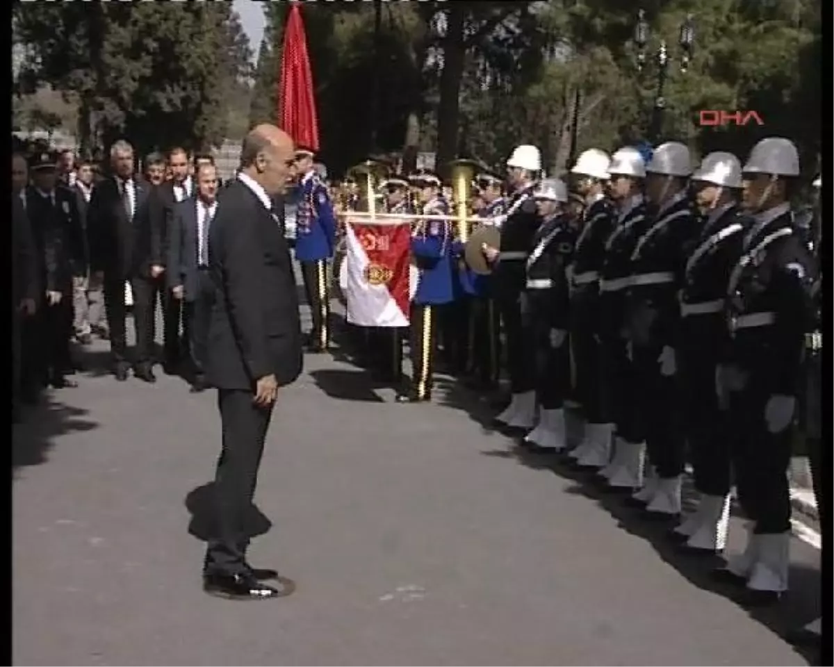
M 567 464 L 566 459 L 556 454 L 545 454 L 530 450 L 516 441 L 508 449 L 495 449 L 482 452 L 485 456 L 498 459 L 515 459 L 530 469 L 549 470 L 563 479 L 574 483 L 566 489 L 567 493 L 578 494 L 595 500 L 614 519 L 620 529 L 627 533 L 646 539 L 655 549 L 661 560 L 676 569 L 697 588 L 735 599 L 737 589 L 731 584 L 722 584 L 711 577 L 711 570 L 721 566 L 724 559 L 720 556 L 692 556 L 681 554 L 668 538 L 669 531 L 675 523 L 647 517 L 641 509 L 635 509 L 624 503 L 627 494 L 611 492 L 597 481 L 595 475 L 577 470 Z M 685 494 L 684 507 L 692 502 L 692 492 Z M 734 513 L 735 514 L 735 513 Z M 820 615 L 821 576 L 817 569 L 806 565 L 792 563 L 790 572 L 791 590 L 780 604 L 771 607 L 751 609 L 752 619 L 765 625 L 779 636 L 784 636 L 791 629 L 796 629 Z M 818 651 L 813 648 L 794 648 L 808 661 L 818 664 Z

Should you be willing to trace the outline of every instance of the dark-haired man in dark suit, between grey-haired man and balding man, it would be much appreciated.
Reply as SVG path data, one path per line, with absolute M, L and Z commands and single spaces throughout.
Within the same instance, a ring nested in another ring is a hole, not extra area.
M 150 207 L 153 228 L 159 229 L 165 245 L 170 234 L 168 228 L 173 218 L 173 208 L 178 202 L 193 196 L 193 178 L 188 175 L 188 151 L 184 148 L 172 148 L 168 153 L 168 168 L 171 170 L 171 180 L 162 183 L 152 200 Z M 163 248 L 163 260 L 167 259 L 168 250 Z M 158 278 L 156 284 L 162 300 L 163 312 L 163 370 L 167 374 L 176 374 L 180 362 L 183 361 L 183 349 L 179 339 L 179 322 L 182 317 L 182 302 L 173 298 L 171 291 L 166 288 L 166 281 Z

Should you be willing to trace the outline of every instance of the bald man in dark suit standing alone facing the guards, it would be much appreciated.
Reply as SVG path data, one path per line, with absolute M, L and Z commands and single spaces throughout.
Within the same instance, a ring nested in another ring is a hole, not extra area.
M 298 378 L 304 357 L 289 248 L 271 210 L 271 196 L 293 169 L 293 142 L 274 125 L 259 125 L 244 139 L 240 161 L 208 235 L 214 304 L 206 372 L 219 391 L 223 449 L 215 478 L 218 530 L 208 542 L 203 583 L 210 594 L 263 599 L 281 594 L 262 583 L 277 573 L 247 563 L 244 516 L 279 387 Z

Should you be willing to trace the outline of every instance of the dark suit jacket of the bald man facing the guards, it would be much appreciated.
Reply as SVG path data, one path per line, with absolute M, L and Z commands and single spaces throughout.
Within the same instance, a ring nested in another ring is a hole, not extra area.
M 208 381 L 219 389 L 253 389 L 275 374 L 299 377 L 304 354 L 289 248 L 272 214 L 244 183 L 219 199 L 208 232 L 215 286 L 208 333 Z

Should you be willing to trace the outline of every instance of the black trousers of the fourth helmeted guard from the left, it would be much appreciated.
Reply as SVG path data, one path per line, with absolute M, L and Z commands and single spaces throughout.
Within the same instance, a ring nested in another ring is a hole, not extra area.
M 600 370 L 603 424 L 630 443 L 646 439 L 636 396 L 636 366 L 629 359 L 625 339 L 625 300 L 620 292 L 600 294 Z

